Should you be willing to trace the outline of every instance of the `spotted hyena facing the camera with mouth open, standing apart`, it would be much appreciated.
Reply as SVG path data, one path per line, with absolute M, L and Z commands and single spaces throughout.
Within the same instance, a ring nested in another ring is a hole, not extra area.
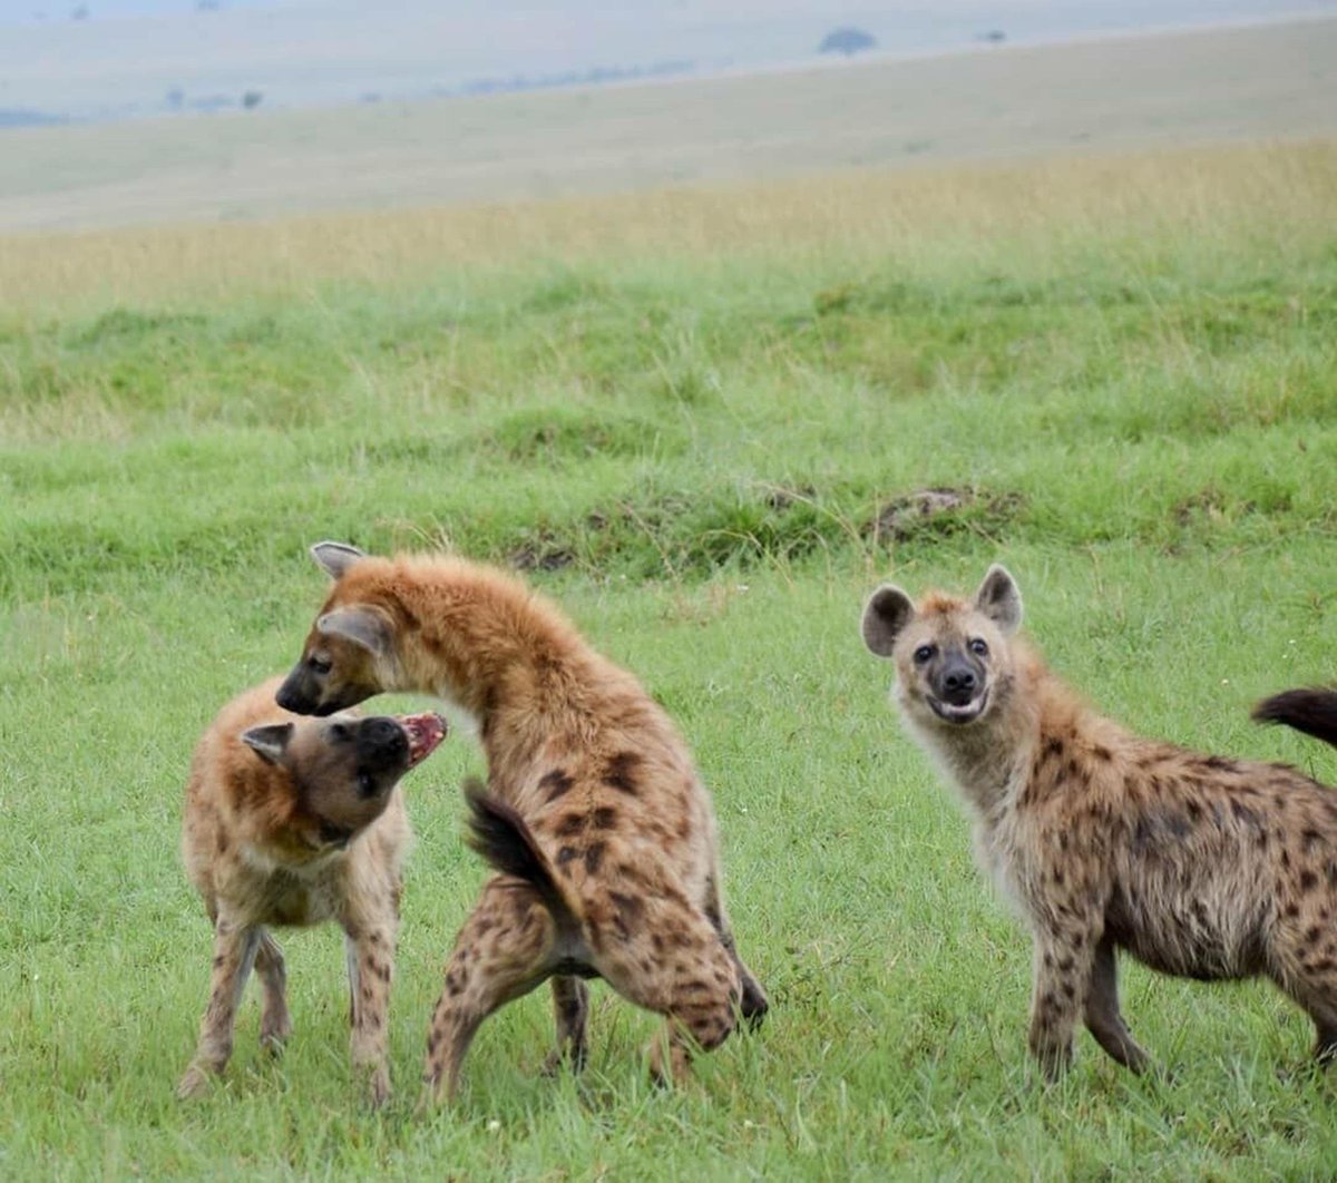
M 1266 974 L 1337 1053 L 1337 797 L 1294 769 L 1198 755 L 1095 714 L 1013 634 L 992 567 L 973 599 L 873 592 L 864 642 L 896 662 L 910 733 L 965 798 L 981 864 L 1035 938 L 1032 1053 L 1047 1076 L 1083 1020 L 1135 1072 L 1115 956 L 1203 981 Z

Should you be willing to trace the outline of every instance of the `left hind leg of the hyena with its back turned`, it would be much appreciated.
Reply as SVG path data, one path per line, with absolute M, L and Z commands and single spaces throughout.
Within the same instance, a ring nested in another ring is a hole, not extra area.
M 422 1073 L 429 1101 L 453 1100 L 479 1025 L 552 972 L 558 926 L 539 893 L 509 876 L 491 880 L 455 938 L 445 989 L 432 1012 Z

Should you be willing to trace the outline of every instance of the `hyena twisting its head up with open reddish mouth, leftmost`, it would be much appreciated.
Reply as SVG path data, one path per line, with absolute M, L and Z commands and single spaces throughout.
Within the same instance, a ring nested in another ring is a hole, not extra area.
M 191 763 L 182 857 L 214 925 L 209 1009 L 178 1093 L 227 1065 L 251 965 L 265 991 L 261 1043 L 291 1031 L 283 954 L 267 925 L 344 928 L 353 1063 L 373 1103 L 389 1095 L 386 1008 L 410 838 L 400 778 L 445 735 L 435 714 L 303 719 L 274 706 L 279 679 L 230 702 Z

